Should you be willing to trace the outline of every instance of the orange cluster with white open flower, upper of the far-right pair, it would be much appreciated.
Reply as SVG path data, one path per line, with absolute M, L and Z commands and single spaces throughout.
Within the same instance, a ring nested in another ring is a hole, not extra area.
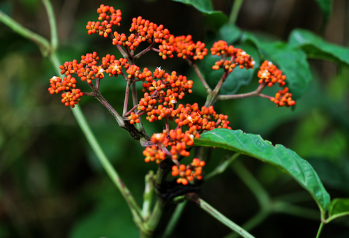
M 258 81 L 260 84 L 265 82 L 269 87 L 272 87 L 277 82 L 280 87 L 285 86 L 286 76 L 271 61 L 263 62 L 258 71 L 258 77 L 260 78 Z

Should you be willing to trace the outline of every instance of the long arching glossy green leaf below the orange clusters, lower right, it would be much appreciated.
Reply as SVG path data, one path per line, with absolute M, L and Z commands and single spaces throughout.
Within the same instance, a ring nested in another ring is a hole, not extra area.
M 318 174 L 295 151 L 287 149 L 281 144 L 273 146 L 271 142 L 263 140 L 260 135 L 246 134 L 240 130 L 216 128 L 203 133 L 200 139 L 195 139 L 195 145 L 221 147 L 269 163 L 286 174 L 290 174 L 311 194 L 321 211 L 327 210 L 329 194 L 322 185 Z

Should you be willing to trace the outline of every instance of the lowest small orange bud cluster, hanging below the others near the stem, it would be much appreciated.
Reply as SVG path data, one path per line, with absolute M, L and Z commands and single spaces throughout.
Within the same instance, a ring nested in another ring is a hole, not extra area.
M 177 179 L 178 184 L 186 185 L 188 184 L 188 181 L 193 181 L 193 179 L 196 177 L 197 179 L 202 179 L 202 167 L 205 166 L 205 161 L 200 161 L 198 158 L 193 159 L 193 163 L 189 165 L 173 165 L 172 166 L 172 176 L 180 176 L 180 178 Z

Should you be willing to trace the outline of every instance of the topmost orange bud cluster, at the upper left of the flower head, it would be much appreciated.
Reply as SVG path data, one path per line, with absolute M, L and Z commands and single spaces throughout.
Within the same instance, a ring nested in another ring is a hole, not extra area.
M 87 22 L 86 29 L 89 35 L 97 33 L 107 38 L 112 32 L 112 26 L 120 26 L 121 10 L 115 10 L 112 6 L 104 6 L 103 4 L 97 9 L 99 13 L 98 22 Z M 101 22 L 100 22 L 101 21 Z

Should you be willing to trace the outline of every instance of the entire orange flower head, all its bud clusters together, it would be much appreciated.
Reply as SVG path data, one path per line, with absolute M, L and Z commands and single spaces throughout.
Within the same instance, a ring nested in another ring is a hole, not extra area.
M 74 59 L 73 61 L 66 61 L 59 66 L 61 69 L 61 77 L 52 77 L 50 79 L 50 94 L 61 94 L 61 102 L 66 106 L 75 107 L 81 96 L 92 95 L 93 93 L 82 93 L 80 89 L 76 88 L 77 80 L 72 77 L 76 74 L 82 81 L 86 81 L 91 85 L 92 80 L 103 79 L 105 73 L 112 77 L 122 75 L 129 83 L 142 81 L 142 91 L 144 95 L 140 98 L 138 105 L 135 105 L 130 112 L 124 114 L 124 119 L 129 120 L 130 124 L 140 123 L 140 116 L 145 114 L 149 122 L 164 119 L 166 122 L 166 129 L 162 133 L 156 133 L 151 136 L 151 146 L 146 147 L 143 151 L 145 156 L 144 161 L 155 161 L 161 163 L 165 158 L 171 158 L 176 165 L 172 167 L 172 175 L 179 176 L 178 184 L 188 184 L 194 178 L 202 179 L 202 167 L 205 165 L 204 161 L 194 158 L 189 165 L 180 165 L 180 157 L 190 156 L 188 147 L 193 147 L 194 139 L 200 138 L 200 134 L 205 131 L 211 131 L 214 128 L 228 128 L 228 116 L 217 114 L 213 106 L 199 107 L 198 103 L 194 104 L 179 104 L 186 94 L 192 93 L 193 81 L 188 80 L 186 76 L 177 75 L 176 71 L 172 73 L 165 73 L 161 67 L 154 71 L 148 68 L 143 68 L 134 64 L 135 59 L 138 59 L 142 54 L 149 50 L 154 50 L 167 59 L 172 58 L 173 53 L 177 53 L 177 57 L 187 59 L 191 64 L 195 60 L 203 59 L 207 55 L 207 48 L 205 43 L 198 41 L 194 43 L 192 36 L 173 36 L 168 29 L 163 25 L 157 25 L 149 20 L 144 20 L 142 17 L 135 17 L 132 20 L 130 36 L 119 34 L 117 31 L 112 32 L 114 25 L 119 26 L 121 21 L 121 11 L 115 10 L 111 6 L 101 5 L 98 8 L 99 13 L 97 22 L 88 22 L 88 34 L 97 33 L 101 36 L 107 37 L 112 33 L 112 43 L 117 45 L 118 49 L 125 58 L 116 59 L 114 55 L 107 54 L 102 58 L 102 64 L 97 63 L 99 57 L 96 52 L 86 54 L 81 57 L 80 62 Z M 136 50 L 140 43 L 147 41 L 150 46 L 138 55 L 134 55 L 133 50 Z M 158 50 L 154 45 L 158 43 Z M 124 46 L 126 51 L 121 50 Z M 131 50 L 131 51 L 130 51 Z M 223 40 L 218 40 L 211 47 L 211 54 L 221 57 L 216 61 L 212 68 L 218 70 L 223 68 L 225 76 L 231 73 L 237 66 L 239 68 L 253 68 L 255 61 L 253 58 L 244 52 L 244 50 L 228 45 Z M 124 74 L 122 70 L 124 69 Z M 272 87 L 279 83 L 280 87 L 285 86 L 285 75 L 282 71 L 276 68 L 270 61 L 263 62 L 258 71 L 260 87 L 268 85 Z M 128 85 L 129 85 L 128 84 Z M 265 96 L 268 97 L 269 96 Z M 276 103 L 276 106 L 289 107 L 295 105 L 292 100 L 292 94 L 288 92 L 285 87 L 280 90 L 271 101 Z M 177 124 L 175 129 L 170 130 L 168 121 L 174 121 Z M 178 159 L 178 160 L 177 160 Z

